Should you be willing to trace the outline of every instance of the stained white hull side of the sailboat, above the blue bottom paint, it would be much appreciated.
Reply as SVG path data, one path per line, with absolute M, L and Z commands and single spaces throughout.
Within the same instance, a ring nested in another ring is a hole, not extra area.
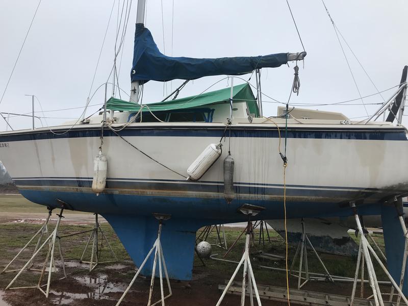
M 150 157 L 187 175 L 187 168 L 200 152 L 208 144 L 219 141 L 224 126 L 217 123 L 134 123 L 119 134 Z M 284 130 L 282 125 L 281 150 L 284 150 Z M 47 131 L 0 134 L 0 144 L 7 143 L 0 146 L 0 158 L 16 185 L 22 191 L 92 193 L 92 161 L 100 145 L 100 126 L 74 126 L 64 136 Z M 232 131 L 236 200 L 282 203 L 283 161 L 278 155 L 275 125 L 234 124 Z M 272 133 L 271 137 L 265 133 Z M 402 128 L 333 124 L 301 124 L 299 127 L 293 124 L 288 126 L 288 135 L 288 202 L 341 205 L 358 200 L 375 203 L 408 192 L 405 171 L 408 160 L 398 158 L 408 155 L 408 141 Z M 210 170 L 199 181 L 187 182 L 105 128 L 106 193 L 223 199 L 222 161 L 227 155 L 228 141 L 227 137 L 220 159 Z M 98 200 L 96 195 L 94 198 Z M 78 207 L 79 203 L 72 205 L 77 205 L 75 209 L 86 210 Z

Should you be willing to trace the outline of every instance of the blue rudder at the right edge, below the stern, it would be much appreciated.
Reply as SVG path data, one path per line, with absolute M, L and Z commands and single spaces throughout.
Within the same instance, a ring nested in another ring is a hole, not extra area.
M 398 220 L 395 207 L 381 207 L 382 230 L 384 231 L 384 242 L 386 245 L 387 267 L 394 278 L 395 283 L 399 285 L 402 268 L 402 258 L 405 248 L 405 238 Z M 405 269 L 404 284 L 402 292 L 408 296 L 408 266 Z

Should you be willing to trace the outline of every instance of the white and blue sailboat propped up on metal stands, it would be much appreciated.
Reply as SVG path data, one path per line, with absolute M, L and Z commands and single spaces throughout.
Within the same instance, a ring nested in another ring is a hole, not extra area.
M 163 252 L 169 276 L 186 280 L 198 228 L 246 221 L 238 212 L 242 205 L 263 207 L 259 219 L 282 219 L 285 212 L 288 218 L 346 217 L 353 214 L 350 202 L 360 215 L 384 215 L 384 203 L 408 194 L 408 160 L 390 161 L 396 153 L 408 155 L 401 125 L 406 67 L 395 94 L 360 122 L 285 107 L 277 117 L 264 117 L 260 87 L 248 83 L 141 105 L 140 86 L 148 81 L 257 74 L 306 56 L 172 58 L 160 53 L 143 17 L 140 0 L 130 100 L 107 97 L 103 111 L 79 124 L 0 133 L 0 158 L 25 198 L 102 215 L 136 265 L 156 239 L 152 214 L 171 215 L 162 230 Z M 386 121 L 374 121 L 389 109 Z M 199 157 L 208 150 L 216 158 L 203 165 Z M 99 188 L 94 158 L 101 155 L 107 168 Z M 224 180 L 228 156 L 233 185 Z M 386 243 L 396 245 L 387 237 Z M 400 266 L 390 265 L 399 276 Z

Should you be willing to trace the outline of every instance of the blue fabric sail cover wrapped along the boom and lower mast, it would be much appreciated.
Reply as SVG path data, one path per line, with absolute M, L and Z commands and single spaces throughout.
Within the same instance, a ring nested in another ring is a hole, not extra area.
M 279 67 L 287 63 L 287 58 L 287 53 L 218 59 L 168 57 L 160 53 L 150 31 L 142 23 L 137 23 L 131 79 L 143 84 L 150 80 L 164 82 L 194 80 L 209 75 L 239 75 L 256 68 Z

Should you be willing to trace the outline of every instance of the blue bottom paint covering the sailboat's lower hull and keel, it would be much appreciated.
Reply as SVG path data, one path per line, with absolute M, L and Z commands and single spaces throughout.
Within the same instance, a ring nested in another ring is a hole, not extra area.
M 187 198 L 145 196 L 129 194 L 56 192 L 20 189 L 21 194 L 41 205 L 59 207 L 57 198 L 68 203 L 72 210 L 98 213 L 114 228 L 136 266 L 140 266 L 157 238 L 158 221 L 152 212 L 171 214 L 164 222 L 162 247 L 169 276 L 173 279 L 189 280 L 192 276 L 195 233 L 198 228 L 210 224 L 246 221 L 238 213 L 244 203 L 264 206 L 259 219 L 282 219 L 283 203 L 280 201 L 234 200 L 227 205 L 223 198 Z M 45 211 L 45 210 L 44 210 Z M 350 216 L 349 207 L 339 203 L 287 202 L 289 218 Z M 361 215 L 379 215 L 380 205 L 359 207 Z M 151 275 L 150 259 L 142 273 Z

